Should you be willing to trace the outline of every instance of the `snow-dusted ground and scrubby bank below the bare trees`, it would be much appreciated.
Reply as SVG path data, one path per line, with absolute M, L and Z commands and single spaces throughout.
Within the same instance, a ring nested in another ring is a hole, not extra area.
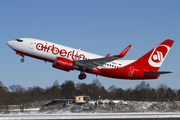
M 2 112 L 0 119 L 180 118 L 180 102 L 119 102 L 116 104 L 61 105 Z

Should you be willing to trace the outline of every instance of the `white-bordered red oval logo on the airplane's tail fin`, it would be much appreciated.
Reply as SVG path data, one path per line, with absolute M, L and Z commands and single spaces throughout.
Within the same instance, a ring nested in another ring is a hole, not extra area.
M 166 45 L 159 45 L 154 48 L 148 60 L 149 64 L 153 67 L 160 67 L 169 50 L 170 47 Z

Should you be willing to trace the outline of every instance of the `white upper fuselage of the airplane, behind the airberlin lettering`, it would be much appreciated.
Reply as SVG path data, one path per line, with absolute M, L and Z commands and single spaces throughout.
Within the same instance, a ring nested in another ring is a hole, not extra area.
M 23 42 L 17 42 L 16 40 L 7 42 L 13 50 L 30 54 L 34 57 L 40 57 L 45 61 L 54 61 L 56 57 L 64 57 L 69 60 L 88 60 L 102 58 L 103 56 L 93 53 L 85 52 L 82 50 L 74 49 L 71 47 L 47 42 L 33 38 L 20 38 Z M 54 47 L 53 51 L 52 48 Z M 114 60 L 98 66 L 98 68 L 114 68 L 126 66 L 135 60 Z

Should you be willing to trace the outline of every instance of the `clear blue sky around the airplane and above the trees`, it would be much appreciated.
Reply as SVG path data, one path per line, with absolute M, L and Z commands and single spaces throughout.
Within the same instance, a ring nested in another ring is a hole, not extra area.
M 99 79 L 111 85 L 134 88 L 141 80 L 121 80 L 87 74 L 78 79 L 79 71 L 65 72 L 51 63 L 21 57 L 6 42 L 30 37 L 59 43 L 106 56 L 118 54 L 129 44 L 124 60 L 138 59 L 166 39 L 175 43 L 160 70 L 172 71 L 157 80 L 147 80 L 151 87 L 166 84 L 180 89 L 180 1 L 178 0 L 2 0 L 0 4 L 0 81 L 7 87 L 52 86 L 55 80 L 92 83 Z

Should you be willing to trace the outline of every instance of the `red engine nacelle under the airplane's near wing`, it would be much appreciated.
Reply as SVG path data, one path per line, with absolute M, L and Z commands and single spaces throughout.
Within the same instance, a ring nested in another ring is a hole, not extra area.
M 53 67 L 64 71 L 74 70 L 74 62 L 72 60 L 57 57 L 53 63 Z

